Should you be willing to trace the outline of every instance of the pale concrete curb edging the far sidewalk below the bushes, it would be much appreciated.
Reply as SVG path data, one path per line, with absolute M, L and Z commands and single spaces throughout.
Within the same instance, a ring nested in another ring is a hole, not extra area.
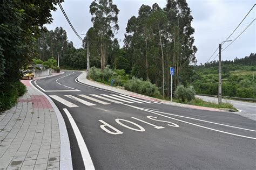
M 175 107 L 183 107 L 183 108 L 188 108 L 188 109 L 197 109 L 197 110 L 208 110 L 208 111 L 218 111 L 218 112 L 227 112 L 225 110 L 220 110 L 220 109 L 215 109 L 215 108 L 207 108 L 207 107 L 199 107 L 199 106 L 196 106 L 196 105 L 188 105 L 188 104 L 181 104 L 181 103 L 175 103 L 175 102 L 169 102 L 169 101 L 165 101 L 165 100 L 161 100 L 159 98 L 153 98 L 153 97 L 149 97 L 149 96 L 145 96 L 145 95 L 141 95 L 141 94 L 137 94 L 137 93 L 133 93 L 131 91 L 127 91 L 127 90 L 124 90 L 124 89 L 117 89 L 119 91 L 114 91 L 114 90 L 111 90 L 111 89 L 104 89 L 104 88 L 100 88 L 100 87 L 96 87 L 96 86 L 92 86 L 91 84 L 87 84 L 85 82 L 83 82 L 82 80 L 80 80 L 80 77 L 85 74 L 86 72 L 84 71 L 77 71 L 77 72 L 82 72 L 77 78 L 76 78 L 76 81 L 78 83 L 81 83 L 81 84 L 84 84 L 86 86 L 90 86 L 90 87 L 93 87 L 93 88 L 97 88 L 97 89 L 101 89 L 101 90 L 105 90 L 105 91 L 110 91 L 112 93 L 117 93 L 117 94 L 123 94 L 120 90 L 123 90 L 125 91 L 126 93 L 130 93 L 130 94 L 134 94 L 136 96 L 131 96 L 131 97 L 138 97 L 138 98 L 142 98 L 142 99 L 145 99 L 146 100 L 151 100 L 151 101 L 156 101 L 156 102 L 161 102 L 163 104 L 168 104 L 168 105 L 173 105 Z M 91 81 L 91 80 L 88 80 L 88 81 Z M 95 82 L 95 81 L 92 81 L 94 83 L 98 83 L 98 82 Z M 98 83 L 100 84 L 100 83 Z M 106 84 L 102 84 L 104 86 L 107 86 Z M 114 88 L 114 87 L 111 87 L 111 88 Z M 124 95 L 129 95 L 129 94 L 124 94 Z M 130 96 L 130 95 L 129 95 Z

